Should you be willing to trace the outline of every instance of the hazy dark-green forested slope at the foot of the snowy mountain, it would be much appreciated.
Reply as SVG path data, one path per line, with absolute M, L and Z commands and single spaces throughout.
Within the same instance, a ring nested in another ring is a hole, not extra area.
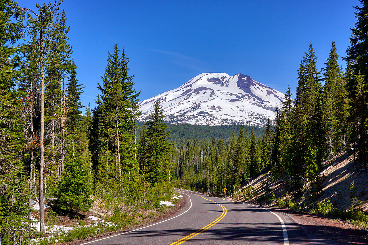
M 141 132 L 143 122 L 138 122 L 137 137 Z M 196 139 L 198 143 L 211 142 L 212 138 L 223 140 L 224 142 L 230 141 L 231 134 L 235 131 L 236 135 L 239 135 L 241 125 L 220 125 L 220 126 L 207 126 L 207 125 L 191 125 L 191 124 L 166 124 L 167 131 L 170 132 L 169 142 L 175 142 L 177 145 L 183 145 L 188 142 L 188 139 Z M 245 134 L 249 136 L 252 126 L 243 126 Z M 261 139 L 265 128 L 254 127 L 255 137 Z M 138 139 L 139 140 L 139 139 Z

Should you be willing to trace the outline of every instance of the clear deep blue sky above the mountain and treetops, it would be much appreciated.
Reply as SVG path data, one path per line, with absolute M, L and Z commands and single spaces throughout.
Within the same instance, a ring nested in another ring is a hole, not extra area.
M 38 2 L 42 3 L 42 2 Z M 35 1 L 20 0 L 35 9 Z M 312 42 L 318 68 L 331 44 L 345 55 L 358 0 L 75 1 L 64 0 L 69 43 L 84 84 L 82 104 L 99 94 L 107 52 L 124 47 L 140 99 L 204 72 L 243 73 L 295 94 L 299 63 Z M 340 60 L 345 67 L 345 63 Z

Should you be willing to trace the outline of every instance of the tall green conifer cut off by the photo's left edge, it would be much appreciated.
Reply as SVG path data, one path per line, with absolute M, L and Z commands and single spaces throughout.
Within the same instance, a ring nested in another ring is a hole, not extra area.
M 24 205 L 29 198 L 29 189 L 22 163 L 22 92 L 15 86 L 15 79 L 19 75 L 15 70 L 19 61 L 16 52 L 19 49 L 12 46 L 20 38 L 22 27 L 21 18 L 15 15 L 17 8 L 17 3 L 13 1 L 0 3 L 0 232 L 7 222 L 20 220 L 26 223 L 22 217 L 28 215 L 29 211 L 29 207 Z M 12 22 L 14 15 L 18 22 Z M 1 232 L 1 239 L 15 242 L 17 238 L 8 237 L 7 233 Z

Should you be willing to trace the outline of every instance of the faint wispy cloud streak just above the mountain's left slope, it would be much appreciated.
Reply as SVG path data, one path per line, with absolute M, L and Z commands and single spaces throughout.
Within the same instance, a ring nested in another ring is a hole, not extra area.
M 173 62 L 177 65 L 180 65 L 181 67 L 193 69 L 195 71 L 203 72 L 204 70 L 207 70 L 206 63 L 202 60 L 198 60 L 193 57 L 186 56 L 181 53 L 171 52 L 171 51 L 165 51 L 160 49 L 149 49 L 152 52 L 165 54 L 173 59 Z

